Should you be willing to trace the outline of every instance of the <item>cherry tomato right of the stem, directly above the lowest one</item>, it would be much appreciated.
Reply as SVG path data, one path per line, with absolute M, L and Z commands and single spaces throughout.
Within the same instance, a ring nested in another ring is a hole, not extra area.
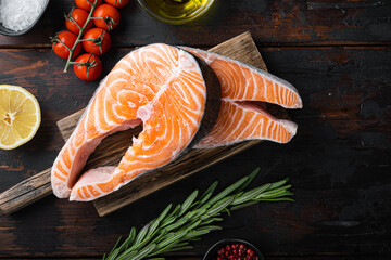
M 100 28 L 92 28 L 88 30 L 83 39 L 91 39 L 88 41 L 83 41 L 83 47 L 86 52 L 92 53 L 94 55 L 101 55 L 106 53 L 111 46 L 111 37 L 108 31 Z

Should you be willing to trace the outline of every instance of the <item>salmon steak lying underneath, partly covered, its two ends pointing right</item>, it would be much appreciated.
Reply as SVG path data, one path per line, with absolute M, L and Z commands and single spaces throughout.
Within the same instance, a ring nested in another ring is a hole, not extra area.
M 289 142 L 297 123 L 277 119 L 260 102 L 285 108 L 301 108 L 298 90 L 288 81 L 265 70 L 200 49 L 180 47 L 204 60 L 222 86 L 220 112 L 212 131 L 194 148 L 230 145 L 245 140 Z

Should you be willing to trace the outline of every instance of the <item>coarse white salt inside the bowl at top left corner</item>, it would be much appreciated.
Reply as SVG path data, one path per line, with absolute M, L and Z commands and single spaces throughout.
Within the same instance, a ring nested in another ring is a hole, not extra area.
M 10 30 L 27 29 L 45 8 L 45 0 L 0 0 L 0 23 Z

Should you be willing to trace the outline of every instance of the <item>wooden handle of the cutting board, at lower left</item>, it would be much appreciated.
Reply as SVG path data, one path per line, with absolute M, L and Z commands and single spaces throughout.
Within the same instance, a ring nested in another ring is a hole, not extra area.
M 0 211 L 10 214 L 52 194 L 50 171 L 46 169 L 1 193 Z

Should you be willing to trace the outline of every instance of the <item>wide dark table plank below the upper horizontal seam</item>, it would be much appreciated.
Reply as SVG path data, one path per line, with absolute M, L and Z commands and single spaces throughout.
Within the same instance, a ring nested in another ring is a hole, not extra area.
M 113 60 L 128 51 L 117 50 Z M 390 48 L 263 48 L 261 53 L 268 69 L 303 98 L 303 109 L 290 113 L 299 125 L 291 143 L 256 145 L 104 218 L 90 204 L 49 196 L 0 217 L 1 256 L 99 257 L 168 203 L 180 203 L 214 180 L 225 186 L 257 166 L 263 173 L 255 184 L 289 176 L 297 202 L 235 212 L 224 231 L 207 235 L 187 256 L 202 256 L 226 237 L 253 242 L 267 256 L 390 255 Z M 37 75 L 31 64 L 45 60 L 49 66 Z M 50 50 L 2 50 L 0 61 L 3 78 L 35 93 L 46 115 L 31 142 L 0 152 L 0 188 L 5 191 L 51 166 L 64 144 L 55 121 L 83 108 L 94 86 L 72 74 L 40 76 L 63 66 Z M 26 79 L 29 74 L 36 76 Z

